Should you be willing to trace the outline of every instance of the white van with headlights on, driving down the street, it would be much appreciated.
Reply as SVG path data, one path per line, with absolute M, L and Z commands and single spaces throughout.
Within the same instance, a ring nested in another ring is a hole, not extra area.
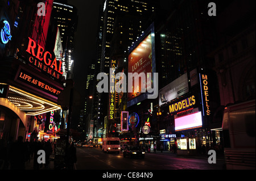
M 120 153 L 120 139 L 119 138 L 103 138 L 102 151 L 106 153 L 117 152 Z

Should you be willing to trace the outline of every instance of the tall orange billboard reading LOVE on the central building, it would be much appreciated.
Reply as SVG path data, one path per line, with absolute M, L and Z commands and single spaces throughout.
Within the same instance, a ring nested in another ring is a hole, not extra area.
M 133 77 L 133 82 L 138 81 L 138 85 L 133 86 L 133 91 L 127 93 L 127 107 L 133 106 L 148 98 L 148 92 L 153 87 L 152 73 L 155 73 L 155 31 L 154 24 L 143 33 L 141 38 L 129 50 L 128 56 L 128 73 L 138 74 Z M 146 80 L 139 77 L 140 73 L 151 74 L 151 79 Z

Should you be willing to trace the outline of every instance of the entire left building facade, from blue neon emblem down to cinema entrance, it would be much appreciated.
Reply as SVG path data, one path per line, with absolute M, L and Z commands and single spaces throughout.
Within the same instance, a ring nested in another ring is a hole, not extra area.
M 65 65 L 60 58 L 63 50 L 52 14 L 54 5 L 44 1 L 43 14 L 38 3 L 1 1 L 0 136 L 4 140 L 57 138 L 61 119 L 63 124 L 67 119 L 58 103 Z

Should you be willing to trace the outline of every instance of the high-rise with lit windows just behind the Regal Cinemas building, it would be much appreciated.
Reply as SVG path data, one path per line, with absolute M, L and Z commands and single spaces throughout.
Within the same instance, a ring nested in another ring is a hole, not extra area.
M 64 49 L 63 64 L 67 78 L 72 78 L 74 65 L 74 37 L 77 29 L 77 8 L 67 1 L 53 2 L 52 16 L 60 31 L 61 43 Z

